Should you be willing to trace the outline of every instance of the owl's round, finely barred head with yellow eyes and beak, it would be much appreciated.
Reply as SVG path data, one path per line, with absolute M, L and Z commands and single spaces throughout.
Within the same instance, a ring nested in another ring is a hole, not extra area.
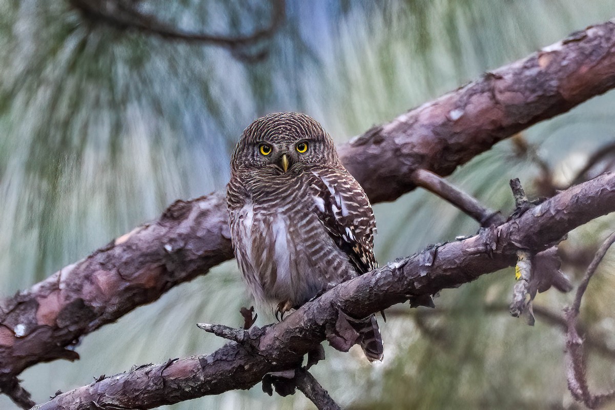
M 287 173 L 338 164 L 328 133 L 315 119 L 298 112 L 276 112 L 255 120 L 245 128 L 231 159 L 234 171 L 263 168 Z

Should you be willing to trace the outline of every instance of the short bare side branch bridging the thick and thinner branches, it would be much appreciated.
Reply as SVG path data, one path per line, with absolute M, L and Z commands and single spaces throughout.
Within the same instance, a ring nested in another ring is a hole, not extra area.
M 431 191 L 438 195 L 438 197 L 452 203 L 455 207 L 476 219 L 480 226 L 504 223 L 504 218 L 498 212 L 483 207 L 472 195 L 461 191 L 461 189 L 432 171 L 416 170 L 412 175 L 412 181 L 417 186 L 423 187 L 427 191 Z

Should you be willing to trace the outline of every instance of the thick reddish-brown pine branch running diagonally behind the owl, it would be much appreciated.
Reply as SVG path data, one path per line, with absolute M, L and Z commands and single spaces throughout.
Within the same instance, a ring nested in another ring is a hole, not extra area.
M 587 28 L 339 152 L 372 202 L 393 200 L 414 188 L 415 170 L 449 175 L 503 138 L 613 88 L 614 49 L 615 23 Z M 1 301 L 0 384 L 35 363 L 78 358 L 69 347 L 80 337 L 232 258 L 226 218 L 222 192 L 180 200 L 157 221 Z

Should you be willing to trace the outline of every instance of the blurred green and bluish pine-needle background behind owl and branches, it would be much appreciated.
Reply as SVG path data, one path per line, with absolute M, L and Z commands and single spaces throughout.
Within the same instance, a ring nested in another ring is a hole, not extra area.
M 175 199 L 223 189 L 234 144 L 258 116 L 306 112 L 343 143 L 615 11 L 612 0 L 288 1 L 271 36 L 229 48 L 128 30 L 84 13 L 89 4 L 136 7 L 177 30 L 232 36 L 258 31 L 272 16 L 266 1 L 0 1 L 2 297 L 156 218 Z M 589 176 L 613 168 L 614 114 L 615 93 L 594 98 L 498 144 L 450 180 L 509 213 L 510 178 L 531 195 L 549 195 L 595 152 L 606 156 Z M 381 263 L 478 227 L 420 190 L 375 212 Z M 574 283 L 614 226 L 613 217 L 597 219 L 561 245 Z M 582 307 L 598 345 L 589 350 L 594 390 L 615 384 L 613 254 Z M 381 324 L 383 363 L 368 364 L 360 349 L 326 347 L 314 374 L 349 409 L 582 408 L 566 388 L 561 329 L 553 317 L 537 314 L 533 327 L 510 317 L 513 285 L 510 269 L 443 291 L 436 309 L 394 307 Z M 551 290 L 536 306 L 560 315 L 569 301 Z M 239 307 L 250 304 L 235 261 L 226 262 L 85 337 L 81 360 L 28 369 L 24 386 L 41 403 L 92 376 L 212 352 L 223 341 L 195 323 L 239 326 Z M 257 325 L 272 320 L 263 314 Z M 313 407 L 301 393 L 269 397 L 257 385 L 164 409 Z M 0 396 L 0 408 L 14 404 Z

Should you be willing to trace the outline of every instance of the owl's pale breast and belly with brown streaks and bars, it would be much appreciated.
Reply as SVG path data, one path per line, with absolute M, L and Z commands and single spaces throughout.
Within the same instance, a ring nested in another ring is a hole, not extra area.
M 250 201 L 231 224 L 237 262 L 260 301 L 300 306 L 355 275 L 321 219 L 322 200 L 306 189 L 284 200 Z

